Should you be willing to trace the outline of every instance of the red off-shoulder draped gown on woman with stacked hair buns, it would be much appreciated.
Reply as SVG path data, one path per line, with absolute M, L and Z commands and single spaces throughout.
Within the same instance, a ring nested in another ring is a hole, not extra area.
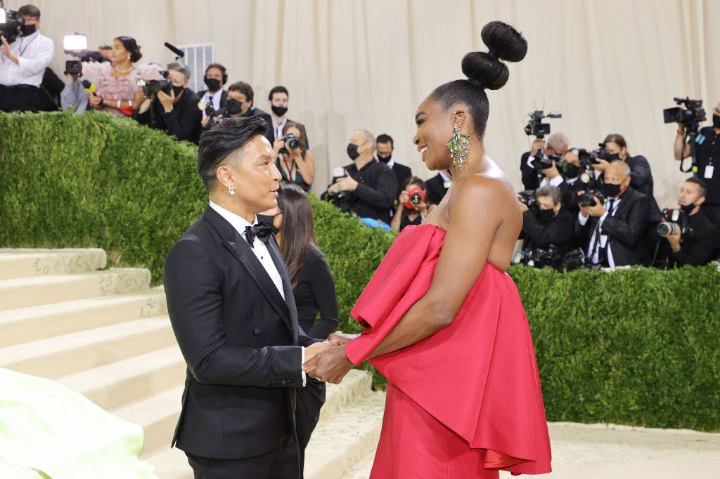
M 397 237 L 351 312 L 366 327 L 347 345 L 354 364 L 428 291 L 444 237 L 431 224 Z M 507 273 L 487 263 L 451 326 L 370 362 L 388 382 L 371 479 L 551 471 L 535 350 Z

